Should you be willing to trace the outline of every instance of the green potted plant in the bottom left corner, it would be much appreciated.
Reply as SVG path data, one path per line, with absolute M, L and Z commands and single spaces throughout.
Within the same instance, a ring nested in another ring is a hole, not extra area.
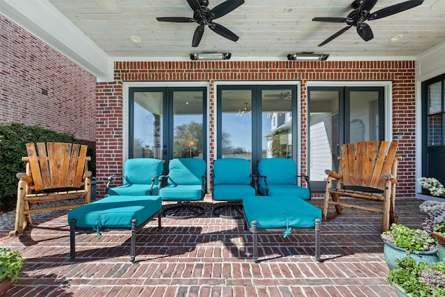
M 19 252 L 0 247 L 0 296 L 19 279 L 19 271 L 24 260 Z

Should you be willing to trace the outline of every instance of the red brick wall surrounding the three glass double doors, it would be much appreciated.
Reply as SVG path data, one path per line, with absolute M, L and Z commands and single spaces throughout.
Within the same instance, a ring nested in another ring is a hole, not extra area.
M 106 177 L 122 174 L 122 82 L 123 81 L 209 81 L 210 106 L 213 88 L 220 80 L 301 81 L 302 172 L 307 168 L 307 81 L 393 81 L 393 134 L 403 136 L 398 154 L 403 156 L 398 170 L 398 197 L 415 195 L 415 80 L 414 61 L 211 61 L 211 62 L 117 62 L 115 81 L 98 83 L 97 96 L 97 194 L 104 195 Z M 211 121 L 215 121 L 210 109 Z M 210 161 L 215 157 L 209 127 Z

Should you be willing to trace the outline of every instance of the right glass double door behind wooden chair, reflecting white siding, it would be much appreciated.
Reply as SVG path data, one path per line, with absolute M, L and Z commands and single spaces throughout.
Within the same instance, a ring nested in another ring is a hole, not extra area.
M 385 139 L 383 87 L 309 87 L 309 179 L 324 191 L 343 143 Z

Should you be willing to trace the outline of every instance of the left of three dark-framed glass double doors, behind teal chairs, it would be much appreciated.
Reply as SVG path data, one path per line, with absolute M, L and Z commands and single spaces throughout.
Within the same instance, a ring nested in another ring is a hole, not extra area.
M 129 158 L 205 159 L 206 88 L 129 88 Z

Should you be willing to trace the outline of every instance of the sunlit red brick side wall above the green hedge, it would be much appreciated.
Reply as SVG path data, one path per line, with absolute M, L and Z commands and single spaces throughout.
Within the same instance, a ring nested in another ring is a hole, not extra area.
M 95 86 L 90 72 L 0 15 L 0 122 L 95 141 Z

